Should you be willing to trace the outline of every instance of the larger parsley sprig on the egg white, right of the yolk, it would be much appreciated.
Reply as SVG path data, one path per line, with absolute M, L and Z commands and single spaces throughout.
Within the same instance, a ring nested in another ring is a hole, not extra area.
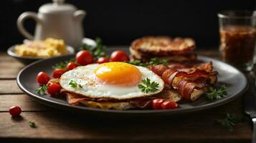
M 138 84 L 138 88 L 146 94 L 148 92 L 157 92 L 159 84 L 157 82 L 151 82 L 150 79 L 146 78 L 142 80 L 142 84 Z

